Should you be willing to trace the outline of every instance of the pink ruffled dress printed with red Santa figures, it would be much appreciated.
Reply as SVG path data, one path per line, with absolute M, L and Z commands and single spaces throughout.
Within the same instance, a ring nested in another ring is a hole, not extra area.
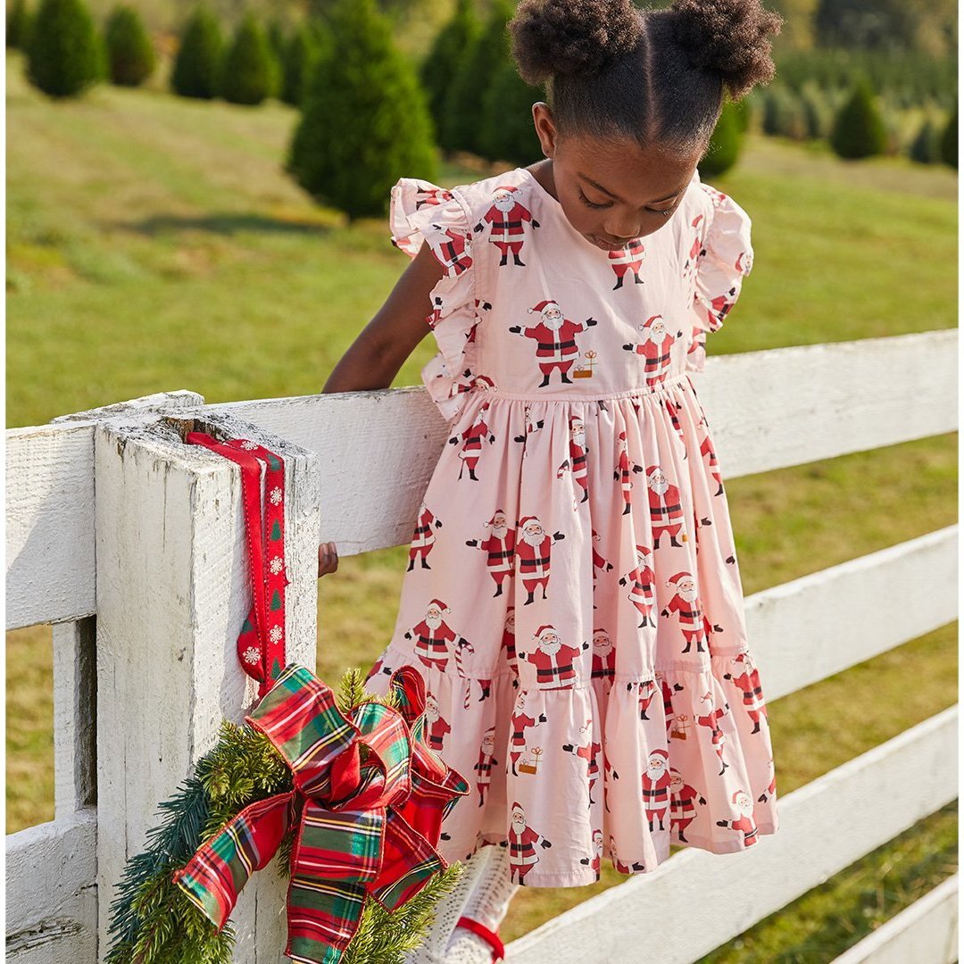
M 391 241 L 445 266 L 422 377 L 450 421 L 398 620 L 369 674 L 415 666 L 430 744 L 472 788 L 442 856 L 509 847 L 513 879 L 655 870 L 778 826 L 727 496 L 690 381 L 752 266 L 750 219 L 696 174 L 605 252 L 517 168 L 403 177 Z

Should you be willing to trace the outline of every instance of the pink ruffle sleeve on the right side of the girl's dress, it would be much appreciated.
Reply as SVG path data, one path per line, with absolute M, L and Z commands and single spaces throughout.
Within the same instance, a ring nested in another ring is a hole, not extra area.
M 707 228 L 696 260 L 692 305 L 692 343 L 687 368 L 702 371 L 706 361 L 706 338 L 722 324 L 736 305 L 743 278 L 753 268 L 750 216 L 729 195 L 699 180 L 707 211 Z

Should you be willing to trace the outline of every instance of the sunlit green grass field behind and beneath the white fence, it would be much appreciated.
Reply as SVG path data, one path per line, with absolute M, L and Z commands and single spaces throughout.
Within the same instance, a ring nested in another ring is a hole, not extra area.
M 295 113 L 108 88 L 52 104 L 24 84 L 18 55 L 7 64 L 8 426 L 165 389 L 208 402 L 319 391 L 407 258 L 384 219 L 347 227 L 281 173 Z M 439 180 L 488 171 L 448 165 Z M 756 263 L 711 354 L 956 323 L 950 170 L 751 137 L 712 182 L 751 213 Z M 394 384 L 416 384 L 432 354 L 426 338 Z M 956 445 L 953 433 L 729 481 L 746 592 L 956 522 Z M 320 581 L 323 679 L 387 642 L 406 553 L 346 556 Z M 956 632 L 770 704 L 780 792 L 953 704 Z M 12 832 L 53 817 L 49 628 L 7 644 Z M 956 805 L 706 960 L 829 961 L 954 870 Z M 523 889 L 503 936 L 622 879 Z

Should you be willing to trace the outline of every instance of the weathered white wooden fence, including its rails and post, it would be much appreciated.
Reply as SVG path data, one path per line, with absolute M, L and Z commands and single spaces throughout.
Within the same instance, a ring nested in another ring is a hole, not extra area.
M 926 332 L 710 358 L 694 383 L 723 477 L 953 431 L 956 348 L 956 332 Z M 56 770 L 55 819 L 7 838 L 14 964 L 103 957 L 115 885 L 157 803 L 222 717 L 255 702 L 234 653 L 250 603 L 239 470 L 185 445 L 192 428 L 284 457 L 288 655 L 312 667 L 319 541 L 342 556 L 406 543 L 447 435 L 421 387 L 225 405 L 176 391 L 7 432 L 7 628 L 54 624 Z M 948 526 L 750 596 L 767 699 L 954 620 L 956 549 Z M 780 832 L 759 847 L 681 851 L 508 960 L 691 964 L 951 802 L 956 726 L 956 707 L 937 713 L 782 796 Z M 956 891 L 955 876 L 838 964 L 951 964 Z M 283 899 L 274 872 L 245 888 L 240 964 L 286 960 Z

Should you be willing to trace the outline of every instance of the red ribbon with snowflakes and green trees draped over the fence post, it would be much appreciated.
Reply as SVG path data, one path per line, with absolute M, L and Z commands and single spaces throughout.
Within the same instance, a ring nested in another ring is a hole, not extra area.
M 217 452 L 241 469 L 252 603 L 238 635 L 241 668 L 258 682 L 263 697 L 281 676 L 284 656 L 284 587 L 290 582 L 284 566 L 284 460 L 249 439 L 218 442 L 205 432 L 188 432 L 185 440 Z M 264 509 L 261 467 L 264 466 Z M 262 518 L 263 517 L 263 518 Z

